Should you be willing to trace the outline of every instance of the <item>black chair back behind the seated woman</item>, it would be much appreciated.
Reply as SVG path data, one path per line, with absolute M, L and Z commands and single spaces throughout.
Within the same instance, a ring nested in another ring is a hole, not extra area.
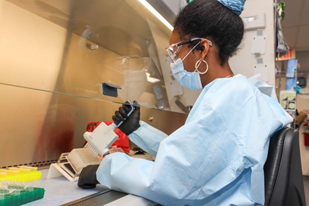
M 271 137 L 264 175 L 265 206 L 306 206 L 297 130 L 286 127 Z

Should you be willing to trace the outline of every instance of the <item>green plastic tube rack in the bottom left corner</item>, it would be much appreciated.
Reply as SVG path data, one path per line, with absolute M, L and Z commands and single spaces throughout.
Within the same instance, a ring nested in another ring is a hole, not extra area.
M 33 191 L 20 191 L 19 195 L 4 195 L 4 199 L 0 199 L 0 206 L 21 206 L 26 203 L 42 199 L 45 190 L 43 188 L 33 188 Z

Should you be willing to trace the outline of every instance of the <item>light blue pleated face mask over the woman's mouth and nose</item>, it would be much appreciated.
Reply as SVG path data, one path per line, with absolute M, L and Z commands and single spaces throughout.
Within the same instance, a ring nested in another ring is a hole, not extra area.
M 170 69 L 174 78 L 183 87 L 191 90 L 198 90 L 203 88 L 199 73 L 196 71 L 186 71 L 180 58 L 178 58 L 175 63 L 170 63 Z

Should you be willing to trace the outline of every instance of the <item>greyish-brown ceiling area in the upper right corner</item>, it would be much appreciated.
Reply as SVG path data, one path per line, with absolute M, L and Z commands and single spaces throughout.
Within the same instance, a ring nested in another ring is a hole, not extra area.
M 286 9 L 281 25 L 289 47 L 296 51 L 309 51 L 309 0 L 283 1 Z

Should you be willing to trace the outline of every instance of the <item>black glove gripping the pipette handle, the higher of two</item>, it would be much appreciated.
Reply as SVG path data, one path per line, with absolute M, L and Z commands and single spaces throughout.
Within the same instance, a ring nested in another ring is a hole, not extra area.
M 134 112 L 128 117 L 126 113 L 129 111 L 129 106 L 123 104 L 122 107 L 119 107 L 119 110 L 115 112 L 115 115 L 112 117 L 114 121 L 124 121 L 120 126 L 119 129 L 125 133 L 127 136 L 130 135 L 132 132 L 137 130 L 140 125 L 140 104 L 137 101 L 133 102 L 135 107 Z M 126 121 L 125 121 L 126 119 Z

